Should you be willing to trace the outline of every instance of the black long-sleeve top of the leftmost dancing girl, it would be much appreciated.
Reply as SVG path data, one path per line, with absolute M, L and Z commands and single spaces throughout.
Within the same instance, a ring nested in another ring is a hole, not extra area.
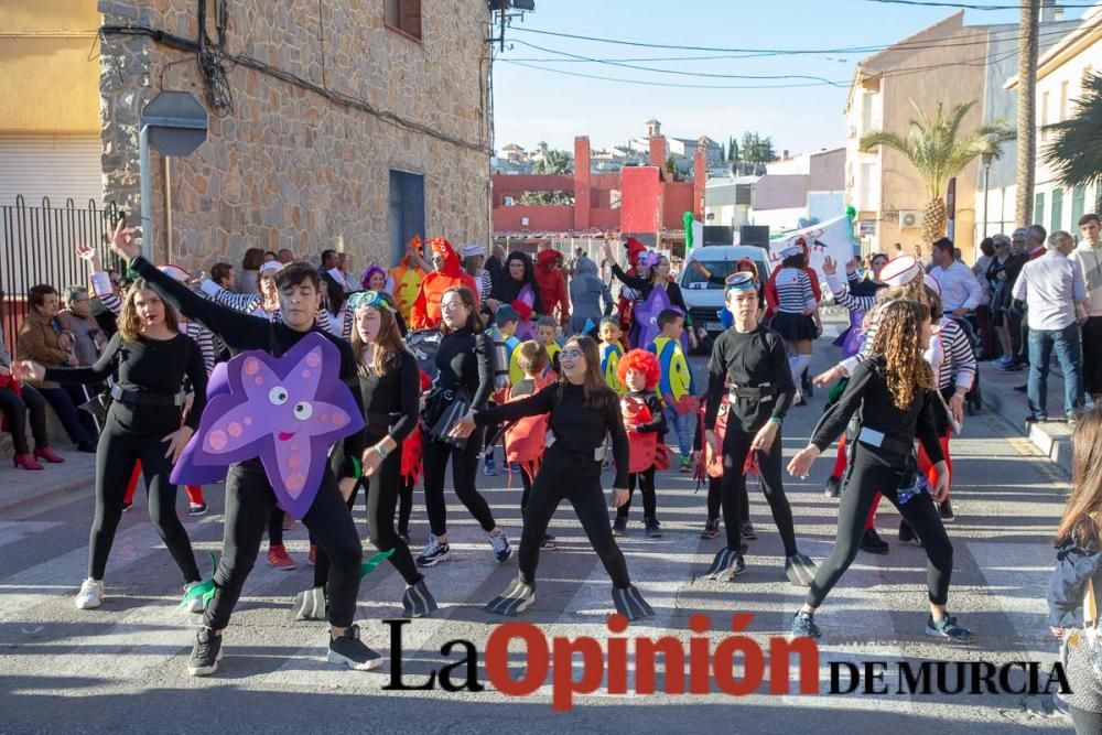
M 57 382 L 98 383 L 111 375 L 118 375 L 118 385 L 123 390 L 166 398 L 179 393 L 184 378 L 187 378 L 195 389 L 195 399 L 184 423 L 193 431 L 198 428 L 206 407 L 206 366 L 199 346 L 186 334 L 177 333 L 171 339 L 138 337 L 134 342 L 127 342 L 116 333 L 94 365 L 48 368 L 45 377 Z M 155 407 L 150 407 L 150 410 L 164 411 Z M 179 411 L 174 420 L 179 424 Z

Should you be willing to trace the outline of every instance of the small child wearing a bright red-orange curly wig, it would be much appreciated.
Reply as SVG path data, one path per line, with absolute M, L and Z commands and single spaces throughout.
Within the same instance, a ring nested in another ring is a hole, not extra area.
M 658 538 L 662 529 L 657 515 L 655 471 L 669 467 L 666 445 L 659 441 L 666 434 L 666 412 L 661 399 L 655 393 L 659 378 L 658 358 L 645 349 L 633 349 L 619 361 L 616 374 L 620 383 L 627 387 L 627 392 L 620 398 L 620 411 L 630 447 L 630 474 L 627 476 L 627 501 L 616 510 L 613 536 L 624 536 L 627 530 L 631 496 L 638 480 L 647 536 Z

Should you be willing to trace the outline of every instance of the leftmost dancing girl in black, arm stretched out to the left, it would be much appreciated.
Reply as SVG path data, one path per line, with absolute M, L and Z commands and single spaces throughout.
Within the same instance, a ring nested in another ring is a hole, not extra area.
M 50 368 L 19 364 L 30 379 L 66 383 L 98 383 L 118 375 L 114 402 L 96 451 L 96 519 L 89 539 L 88 579 L 76 596 L 79 609 L 104 601 L 104 571 L 115 531 L 122 518 L 122 498 L 136 462 L 141 462 L 149 493 L 149 517 L 184 574 L 186 586 L 199 581 L 192 543 L 176 516 L 176 486 L 169 482 L 172 465 L 198 426 L 206 406 L 206 367 L 198 345 L 177 329 L 175 312 L 142 280 L 127 292 L 119 331 L 90 367 Z M 195 400 L 180 425 L 184 378 Z M 186 587 L 185 587 L 186 588 Z M 193 601 L 192 612 L 203 603 Z

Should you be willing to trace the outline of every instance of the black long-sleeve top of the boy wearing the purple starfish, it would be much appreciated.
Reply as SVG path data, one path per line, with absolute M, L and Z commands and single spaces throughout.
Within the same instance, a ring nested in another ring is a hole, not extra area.
M 207 329 L 222 337 L 222 341 L 229 348 L 230 354 L 235 356 L 250 349 L 262 349 L 274 357 L 280 357 L 311 332 L 322 335 L 341 352 L 341 380 L 352 390 L 357 409 L 360 412 L 364 411 L 364 403 L 358 390 L 356 376 L 356 356 L 352 352 L 352 345 L 341 337 L 334 336 L 318 328 L 316 325 L 307 332 L 299 332 L 282 322 L 259 320 L 249 314 L 217 304 L 204 299 L 170 275 L 162 273 L 141 256 L 130 261 L 130 269 L 145 279 L 150 288 L 156 291 L 170 306 L 187 318 L 199 322 Z M 202 392 L 205 393 L 205 380 L 203 385 L 204 390 Z M 201 391 L 196 390 L 195 392 L 197 399 Z M 364 453 L 364 432 L 357 432 L 344 440 L 343 456 L 345 460 L 342 466 L 338 467 L 335 464 L 331 464 L 337 476 L 355 476 L 355 466 L 352 463 L 352 458 L 359 457 Z

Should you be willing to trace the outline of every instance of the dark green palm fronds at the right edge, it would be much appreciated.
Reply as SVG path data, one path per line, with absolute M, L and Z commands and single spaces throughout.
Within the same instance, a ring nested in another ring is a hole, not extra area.
M 1045 161 L 1056 170 L 1060 183 L 1080 186 L 1098 182 L 1102 198 L 1102 75 L 1087 76 L 1074 115 L 1046 129 L 1052 142 L 1045 148 Z

